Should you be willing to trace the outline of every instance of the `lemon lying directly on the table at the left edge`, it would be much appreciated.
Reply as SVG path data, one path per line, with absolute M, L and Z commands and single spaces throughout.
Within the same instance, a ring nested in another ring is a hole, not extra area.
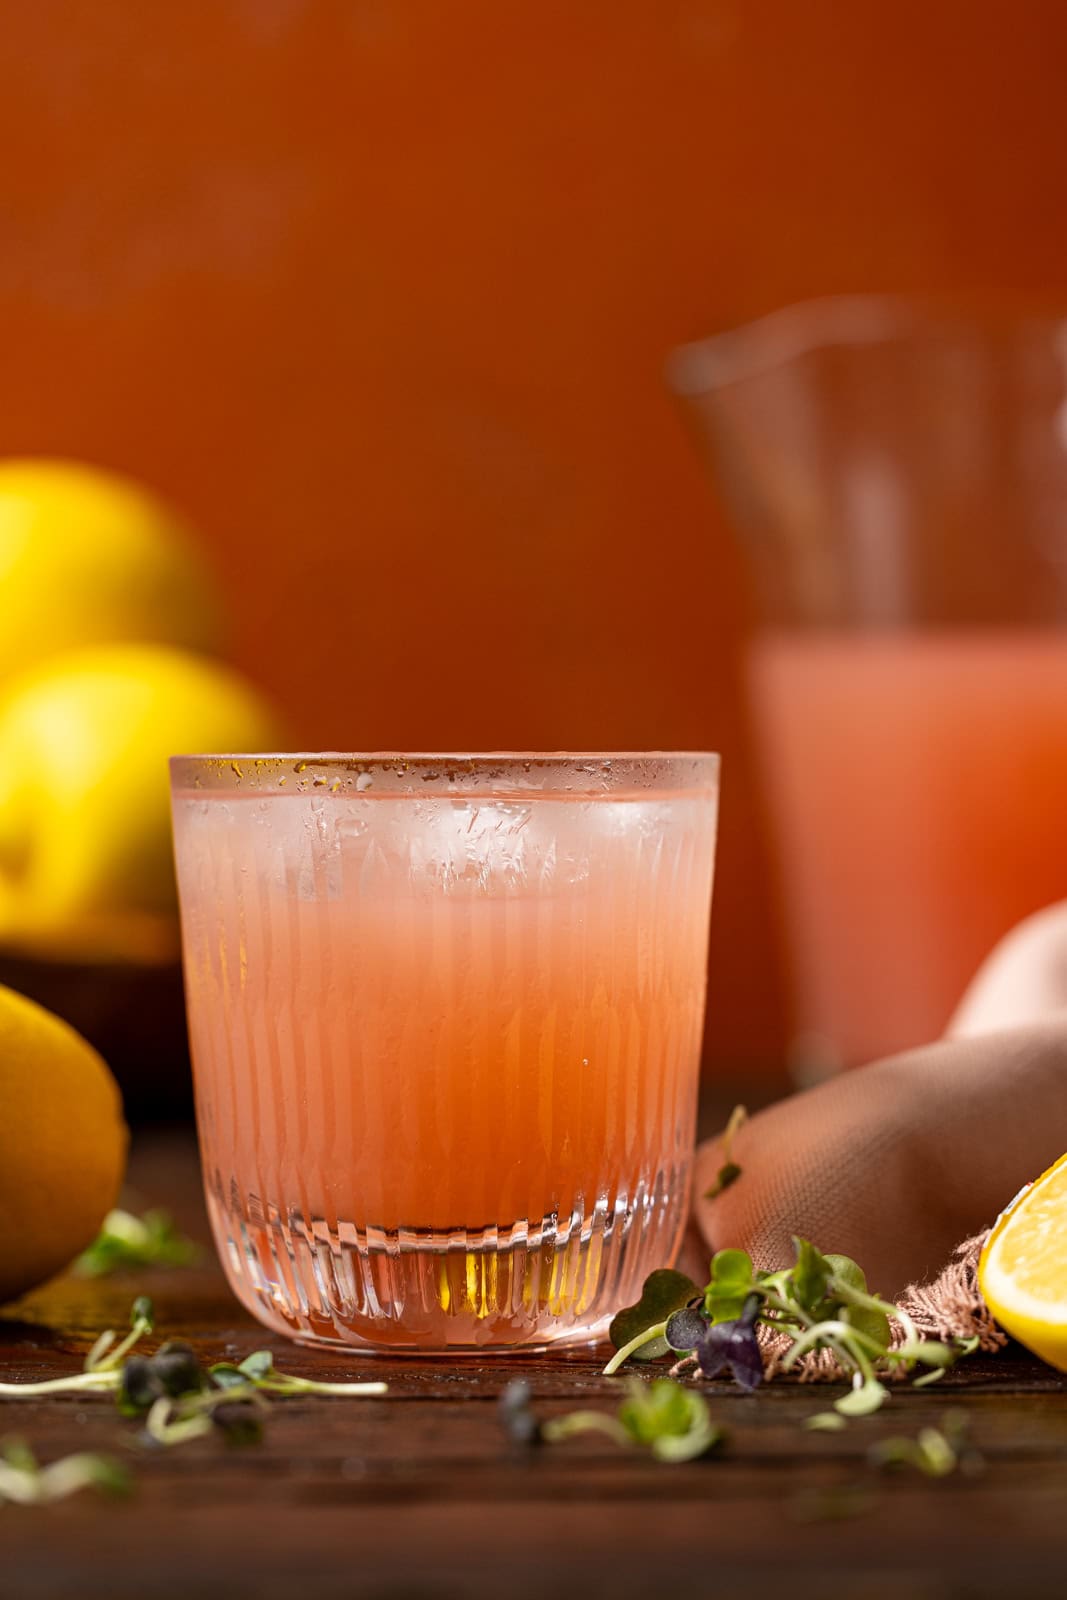
M 0 1304 L 96 1237 L 126 1170 L 110 1072 L 51 1011 L 0 987 Z

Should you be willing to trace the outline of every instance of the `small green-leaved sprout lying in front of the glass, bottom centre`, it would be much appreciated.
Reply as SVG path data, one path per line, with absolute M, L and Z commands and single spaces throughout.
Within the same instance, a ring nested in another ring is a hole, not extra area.
M 651 1384 L 632 1378 L 617 1411 L 566 1411 L 537 1421 L 530 1405 L 530 1386 L 515 1381 L 501 1395 L 501 1422 L 520 1445 L 557 1445 L 579 1434 L 601 1434 L 616 1445 L 648 1450 L 656 1461 L 693 1461 L 723 1438 L 694 1389 L 657 1378 Z

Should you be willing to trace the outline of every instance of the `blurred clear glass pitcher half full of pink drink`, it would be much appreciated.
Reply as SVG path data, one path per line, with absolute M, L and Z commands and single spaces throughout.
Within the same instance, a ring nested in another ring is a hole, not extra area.
M 829 299 L 672 363 L 753 578 L 793 1054 L 941 1034 L 1067 896 L 1067 323 Z

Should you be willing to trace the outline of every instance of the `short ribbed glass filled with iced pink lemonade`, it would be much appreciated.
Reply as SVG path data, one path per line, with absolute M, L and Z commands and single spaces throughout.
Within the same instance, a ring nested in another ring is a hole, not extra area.
M 173 763 L 238 1298 L 413 1350 L 590 1338 L 686 1216 L 717 758 Z

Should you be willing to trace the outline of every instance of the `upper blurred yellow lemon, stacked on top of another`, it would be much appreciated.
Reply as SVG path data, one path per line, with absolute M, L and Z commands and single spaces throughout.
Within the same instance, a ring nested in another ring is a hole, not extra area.
M 0 682 L 109 640 L 211 651 L 216 584 L 176 512 L 75 461 L 0 461 Z

